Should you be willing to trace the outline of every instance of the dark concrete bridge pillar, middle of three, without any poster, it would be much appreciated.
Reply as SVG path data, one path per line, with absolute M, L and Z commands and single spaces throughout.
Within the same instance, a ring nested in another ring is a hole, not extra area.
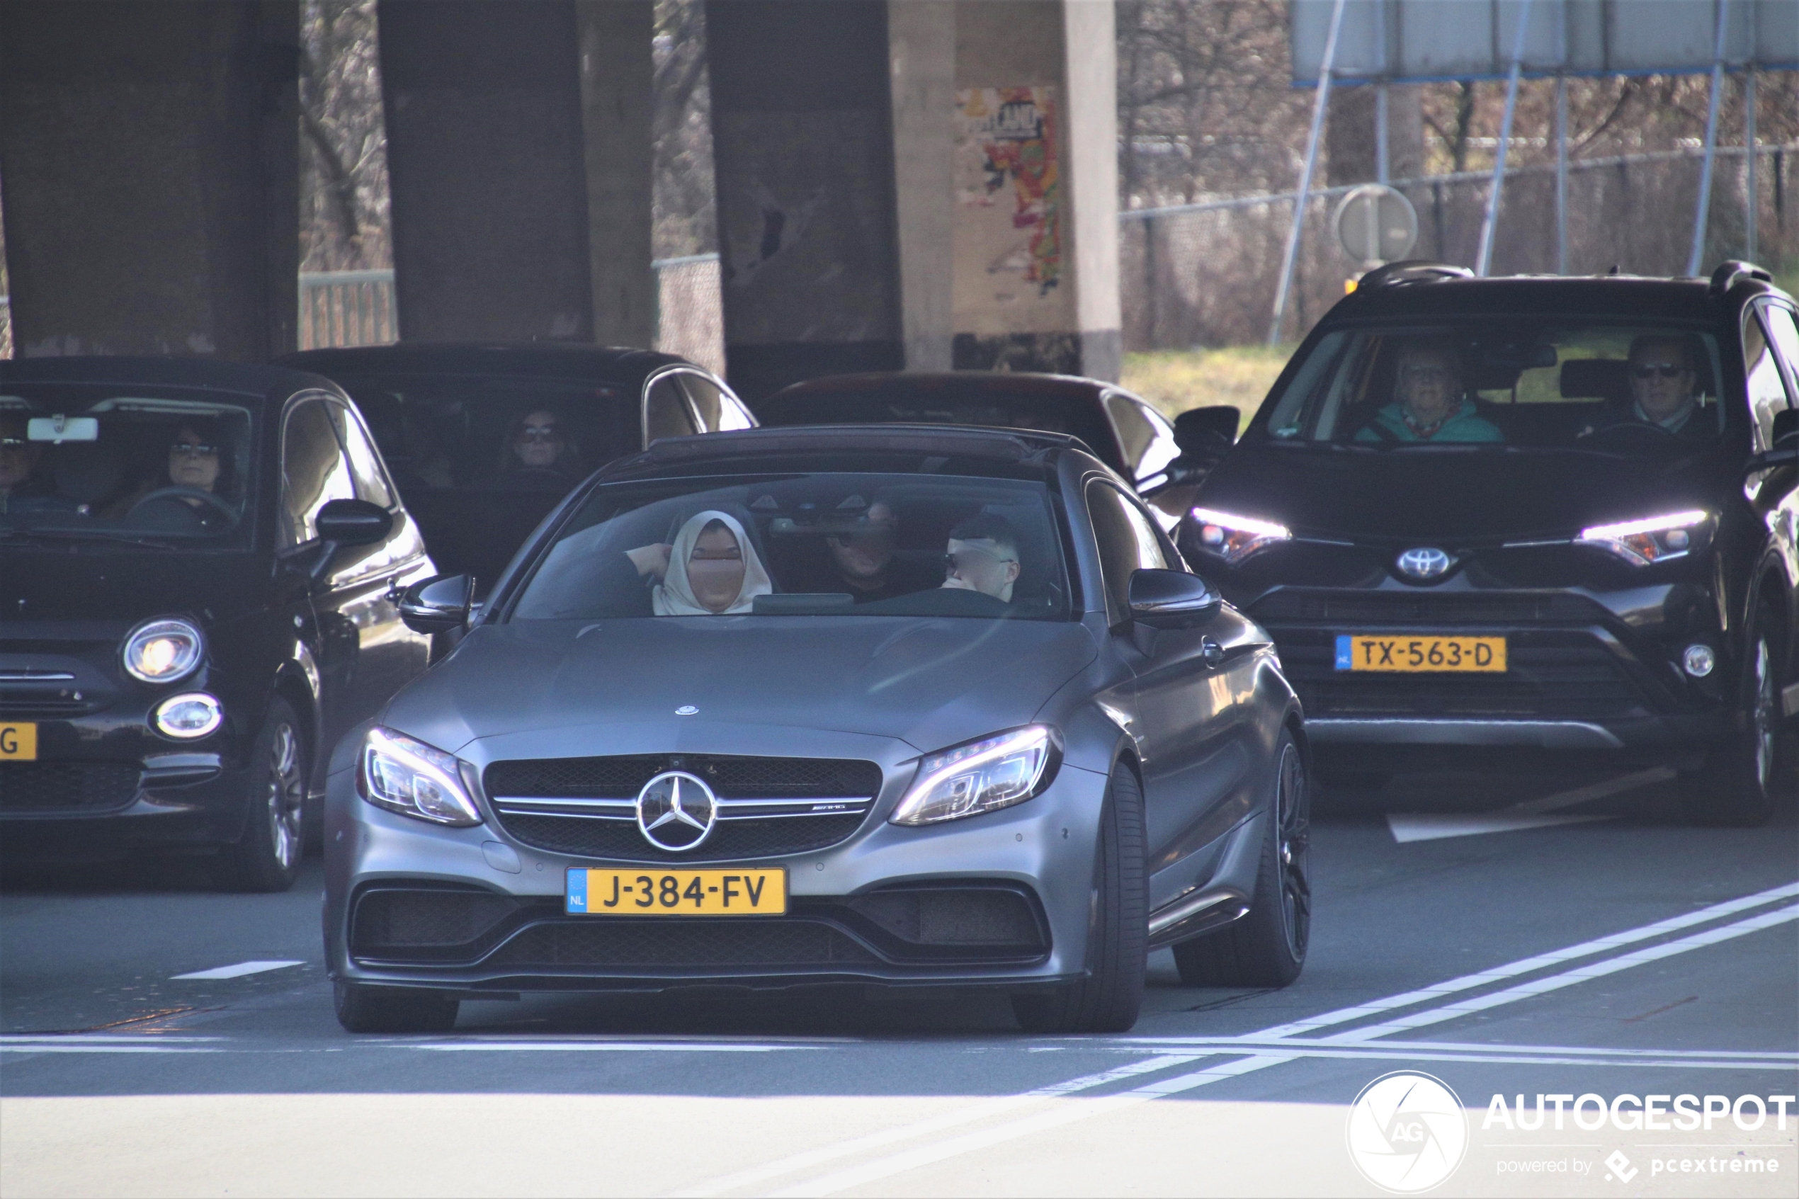
M 378 5 L 403 340 L 649 345 L 651 14 Z

